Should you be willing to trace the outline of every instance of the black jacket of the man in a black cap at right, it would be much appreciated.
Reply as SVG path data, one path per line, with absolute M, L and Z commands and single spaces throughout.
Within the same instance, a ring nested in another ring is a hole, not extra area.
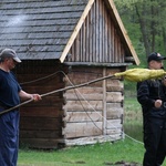
M 155 107 L 155 101 L 162 100 L 163 105 Z M 162 80 L 147 80 L 137 83 L 137 101 L 142 105 L 144 116 L 166 118 L 166 86 Z

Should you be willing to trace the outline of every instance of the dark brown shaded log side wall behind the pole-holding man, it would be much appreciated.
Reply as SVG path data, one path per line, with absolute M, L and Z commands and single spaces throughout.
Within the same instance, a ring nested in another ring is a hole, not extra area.
M 24 91 L 45 94 L 64 87 L 63 68 L 55 61 L 23 61 L 17 77 Z M 58 73 L 56 73 L 58 72 Z M 20 143 L 35 148 L 55 148 L 63 142 L 63 92 L 20 107 Z

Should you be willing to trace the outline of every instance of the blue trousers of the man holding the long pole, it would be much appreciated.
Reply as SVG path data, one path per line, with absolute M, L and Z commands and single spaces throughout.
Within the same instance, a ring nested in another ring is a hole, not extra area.
M 17 166 L 19 148 L 19 112 L 0 115 L 0 165 Z

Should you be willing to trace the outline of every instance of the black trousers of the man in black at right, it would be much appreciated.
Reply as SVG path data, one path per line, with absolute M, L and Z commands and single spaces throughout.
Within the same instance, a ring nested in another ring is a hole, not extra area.
M 166 120 L 144 117 L 143 166 L 160 166 L 166 155 Z

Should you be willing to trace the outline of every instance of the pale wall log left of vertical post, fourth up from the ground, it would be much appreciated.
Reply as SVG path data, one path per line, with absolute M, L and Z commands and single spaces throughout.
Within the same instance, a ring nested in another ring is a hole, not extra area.
M 68 101 L 68 103 L 63 106 L 64 111 L 102 111 L 103 102 L 102 101 Z

